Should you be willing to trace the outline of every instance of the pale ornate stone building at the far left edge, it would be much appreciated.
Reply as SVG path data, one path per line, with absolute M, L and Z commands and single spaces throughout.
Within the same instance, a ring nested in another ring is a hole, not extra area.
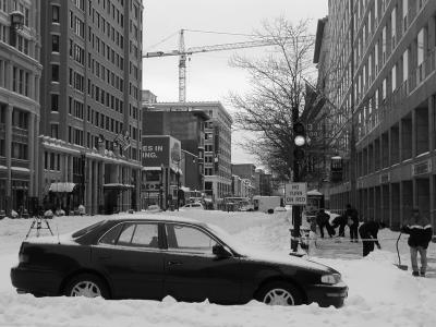
M 0 211 L 5 215 L 32 211 L 38 196 L 39 10 L 39 0 L 0 0 Z

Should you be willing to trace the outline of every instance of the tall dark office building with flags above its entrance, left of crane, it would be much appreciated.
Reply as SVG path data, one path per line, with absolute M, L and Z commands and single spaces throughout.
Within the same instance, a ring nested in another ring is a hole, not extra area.
M 140 0 L 41 3 L 41 179 L 46 203 L 87 213 L 137 209 Z

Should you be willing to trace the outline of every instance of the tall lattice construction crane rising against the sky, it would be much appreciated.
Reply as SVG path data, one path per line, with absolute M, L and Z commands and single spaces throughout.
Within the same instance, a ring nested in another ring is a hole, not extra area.
M 225 51 L 232 49 L 254 48 L 276 45 L 277 40 L 271 38 L 265 38 L 254 41 L 234 43 L 234 44 L 222 44 L 204 47 L 192 47 L 185 49 L 184 46 L 184 29 L 179 32 L 179 50 L 172 51 L 155 51 L 146 52 L 143 58 L 156 58 L 156 57 L 168 57 L 179 56 L 179 101 L 184 102 L 186 100 L 186 58 L 193 53 L 211 52 L 211 51 Z

